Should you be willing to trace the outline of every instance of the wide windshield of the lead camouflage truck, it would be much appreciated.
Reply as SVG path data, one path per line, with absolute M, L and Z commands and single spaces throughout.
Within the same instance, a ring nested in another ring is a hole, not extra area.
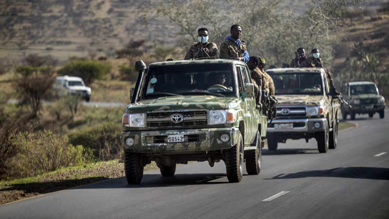
M 162 65 L 150 68 L 143 98 L 174 95 L 235 95 L 235 77 L 229 63 Z

